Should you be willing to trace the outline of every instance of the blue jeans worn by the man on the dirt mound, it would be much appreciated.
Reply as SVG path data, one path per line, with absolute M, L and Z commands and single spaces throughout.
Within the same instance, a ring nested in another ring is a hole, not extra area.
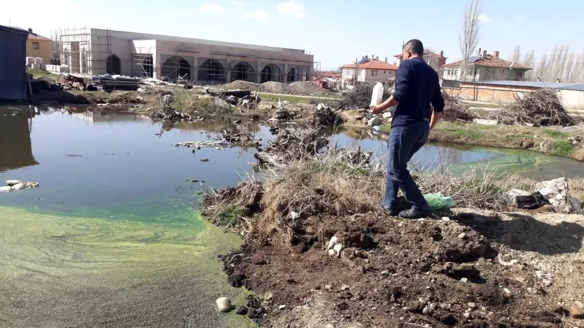
M 387 144 L 389 159 L 383 200 L 384 208 L 395 209 L 395 200 L 398 196 L 398 190 L 401 189 L 405 199 L 412 204 L 412 208 L 430 211 L 422 192 L 408 171 L 409 160 L 428 141 L 429 134 L 430 124 L 427 121 L 391 129 L 390 140 Z

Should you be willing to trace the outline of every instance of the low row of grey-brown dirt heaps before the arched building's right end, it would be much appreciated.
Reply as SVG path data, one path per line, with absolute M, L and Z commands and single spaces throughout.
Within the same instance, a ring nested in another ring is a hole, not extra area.
M 225 88 L 242 89 L 257 92 L 267 93 L 281 93 L 283 95 L 300 95 L 300 96 L 326 96 L 331 95 L 332 92 L 322 89 L 312 82 L 298 81 L 290 84 L 268 81 L 262 84 L 237 80 L 231 83 L 226 83 Z

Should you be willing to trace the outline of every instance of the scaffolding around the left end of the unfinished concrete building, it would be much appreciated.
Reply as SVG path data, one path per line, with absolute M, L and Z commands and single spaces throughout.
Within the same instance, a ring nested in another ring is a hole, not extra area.
M 51 31 L 51 40 L 55 40 L 55 44 L 51 45 L 51 64 L 67 65 L 71 73 L 103 74 L 112 71 L 117 57 L 112 58 L 110 30 L 107 29 L 105 34 L 93 35 L 86 26 Z

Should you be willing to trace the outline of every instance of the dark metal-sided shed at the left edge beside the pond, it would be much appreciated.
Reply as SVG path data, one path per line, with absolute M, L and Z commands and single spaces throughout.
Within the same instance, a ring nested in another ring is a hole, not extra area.
M 25 30 L 0 25 L 0 99 L 26 99 Z

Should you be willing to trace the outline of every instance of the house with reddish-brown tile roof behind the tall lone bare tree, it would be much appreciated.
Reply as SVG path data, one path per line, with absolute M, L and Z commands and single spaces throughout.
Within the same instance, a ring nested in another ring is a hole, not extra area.
M 531 67 L 518 62 L 500 58 L 499 51 L 493 51 L 491 55 L 487 54 L 485 50 L 481 55 L 469 58 L 467 63 L 466 81 L 523 81 L 525 72 L 531 69 Z M 442 78 L 461 81 L 463 68 L 464 60 L 450 62 L 444 65 Z

